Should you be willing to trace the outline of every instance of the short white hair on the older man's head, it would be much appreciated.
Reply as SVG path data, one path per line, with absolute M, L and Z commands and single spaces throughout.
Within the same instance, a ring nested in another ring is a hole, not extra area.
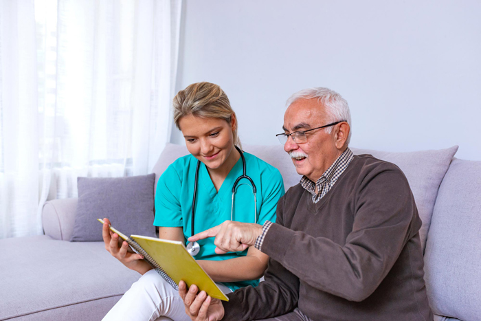
M 300 100 L 300 99 L 312 99 L 317 98 L 317 102 L 322 104 L 326 108 L 327 114 L 327 123 L 330 124 L 331 122 L 339 122 L 340 120 L 346 120 L 348 122 L 350 131 L 348 135 L 348 139 L 346 140 L 346 144 L 350 142 L 350 135 L 352 132 L 352 125 L 350 120 L 350 111 L 348 102 L 342 98 L 339 93 L 324 87 L 313 87 L 308 89 L 302 89 L 297 93 L 293 93 L 291 97 L 286 102 L 286 107 L 291 106 L 293 102 Z M 320 124 L 326 125 L 326 124 Z M 332 126 L 326 127 L 324 129 L 326 133 L 331 133 L 333 130 Z

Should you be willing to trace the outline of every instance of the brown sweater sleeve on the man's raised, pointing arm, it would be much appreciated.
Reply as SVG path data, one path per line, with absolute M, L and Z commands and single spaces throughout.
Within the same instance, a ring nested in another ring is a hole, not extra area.
M 353 230 L 344 245 L 276 223 L 262 252 L 315 289 L 351 301 L 368 298 L 421 225 L 411 226 L 416 204 L 401 170 L 379 167 L 355 186 Z

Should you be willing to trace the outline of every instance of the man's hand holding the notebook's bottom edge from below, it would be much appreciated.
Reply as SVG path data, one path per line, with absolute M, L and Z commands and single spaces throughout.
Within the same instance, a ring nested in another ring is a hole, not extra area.
M 224 317 L 224 307 L 221 300 L 213 299 L 201 291 L 196 285 L 192 285 L 187 291 L 185 282 L 179 282 L 179 294 L 186 307 L 186 314 L 193 321 L 217 321 Z

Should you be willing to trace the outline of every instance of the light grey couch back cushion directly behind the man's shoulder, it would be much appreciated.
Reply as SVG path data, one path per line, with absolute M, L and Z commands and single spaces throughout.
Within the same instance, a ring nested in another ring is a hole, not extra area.
M 412 194 L 416 200 L 419 217 L 423 221 L 419 234 L 421 247 L 425 248 L 427 231 L 438 195 L 439 185 L 446 174 L 451 159 L 458 146 L 436 151 L 416 151 L 407 153 L 391 153 L 368 149 L 351 148 L 356 155 L 370 154 L 376 158 L 396 164 L 406 175 Z

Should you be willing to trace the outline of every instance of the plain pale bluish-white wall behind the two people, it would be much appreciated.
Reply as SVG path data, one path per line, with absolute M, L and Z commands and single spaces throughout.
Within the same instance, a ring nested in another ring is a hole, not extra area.
M 322 86 L 348 100 L 352 146 L 481 160 L 479 0 L 186 0 L 182 29 L 177 89 L 221 85 L 245 144 L 278 144 L 285 100 Z

